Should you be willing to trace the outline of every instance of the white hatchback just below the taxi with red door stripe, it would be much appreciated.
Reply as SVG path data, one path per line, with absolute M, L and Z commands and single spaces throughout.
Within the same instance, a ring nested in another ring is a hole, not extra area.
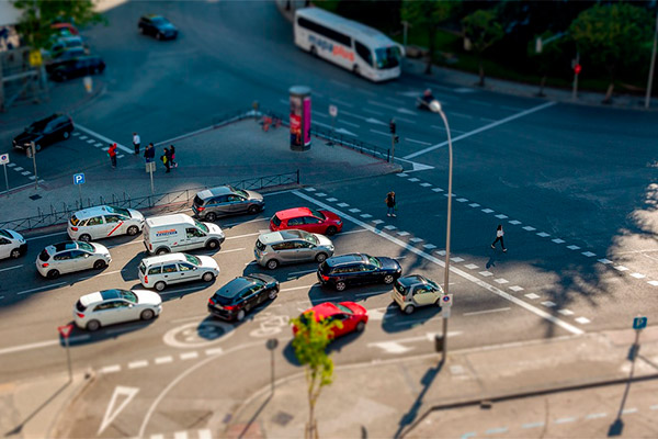
M 95 243 L 69 240 L 55 244 L 42 250 L 36 258 L 36 270 L 48 279 L 57 279 L 59 274 L 73 271 L 102 270 L 112 262 L 105 246 Z

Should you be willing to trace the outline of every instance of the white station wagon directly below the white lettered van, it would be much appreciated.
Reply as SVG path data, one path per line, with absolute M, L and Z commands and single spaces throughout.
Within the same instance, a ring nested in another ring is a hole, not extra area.
M 173 283 L 213 282 L 219 274 L 219 266 L 209 256 L 166 254 L 141 259 L 138 274 L 141 285 L 162 291 Z

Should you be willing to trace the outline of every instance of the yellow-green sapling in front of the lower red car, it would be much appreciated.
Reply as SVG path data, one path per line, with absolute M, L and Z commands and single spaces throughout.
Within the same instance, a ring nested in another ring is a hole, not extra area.
M 327 345 L 332 339 L 334 327 L 342 327 L 342 322 L 316 319 L 313 311 L 297 318 L 291 318 L 296 328 L 293 348 L 297 361 L 304 365 L 308 397 L 308 424 L 306 439 L 317 439 L 318 428 L 315 419 L 315 407 L 322 387 L 333 381 L 333 360 L 327 353 Z

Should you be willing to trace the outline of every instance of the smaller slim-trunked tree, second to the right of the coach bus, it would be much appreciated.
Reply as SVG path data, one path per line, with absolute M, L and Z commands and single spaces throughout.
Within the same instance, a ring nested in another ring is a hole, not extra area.
M 464 32 L 465 48 L 475 50 L 477 56 L 478 86 L 485 87 L 483 53 L 502 38 L 504 34 L 502 24 L 498 22 L 495 10 L 480 9 L 462 19 L 462 30 Z

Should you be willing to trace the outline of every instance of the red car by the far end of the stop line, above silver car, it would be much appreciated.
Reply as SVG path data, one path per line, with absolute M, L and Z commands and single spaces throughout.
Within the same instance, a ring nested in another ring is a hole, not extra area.
M 342 221 L 333 212 L 295 207 L 276 212 L 270 219 L 270 230 L 298 228 L 320 235 L 336 235 L 342 230 Z

